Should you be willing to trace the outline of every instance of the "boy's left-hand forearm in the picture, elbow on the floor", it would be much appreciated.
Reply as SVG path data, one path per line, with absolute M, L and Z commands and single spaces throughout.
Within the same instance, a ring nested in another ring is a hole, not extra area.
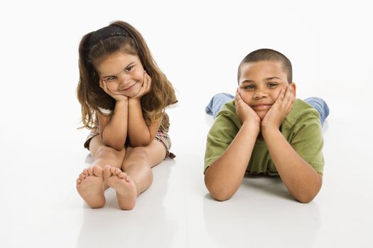
M 205 172 L 205 185 L 215 199 L 225 201 L 236 193 L 258 134 L 259 128 L 242 125 L 227 150 Z

